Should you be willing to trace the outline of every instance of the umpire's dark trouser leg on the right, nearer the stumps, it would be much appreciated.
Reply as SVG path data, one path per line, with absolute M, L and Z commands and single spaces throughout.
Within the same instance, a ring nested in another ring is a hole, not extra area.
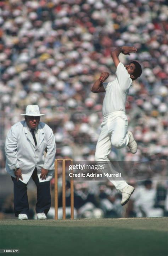
M 51 207 L 50 181 L 39 182 L 37 176 L 37 168 L 34 169 L 32 179 L 37 186 L 37 204 L 35 207 L 36 213 L 47 214 Z

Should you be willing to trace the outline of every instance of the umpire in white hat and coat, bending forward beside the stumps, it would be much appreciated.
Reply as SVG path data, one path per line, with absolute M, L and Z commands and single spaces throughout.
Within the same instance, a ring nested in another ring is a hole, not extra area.
M 11 127 L 5 142 L 5 168 L 12 177 L 14 212 L 20 220 L 28 219 L 30 177 L 37 186 L 37 218 L 46 219 L 51 206 L 50 180 L 54 173 L 56 144 L 52 129 L 40 122 L 43 115 L 37 105 L 28 105 L 26 114 L 22 114 L 25 120 Z

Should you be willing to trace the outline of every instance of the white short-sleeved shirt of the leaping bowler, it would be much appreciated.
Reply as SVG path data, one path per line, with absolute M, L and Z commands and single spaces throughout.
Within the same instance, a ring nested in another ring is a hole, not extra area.
M 106 90 L 102 107 L 103 116 L 114 111 L 125 112 L 125 103 L 132 86 L 132 79 L 121 62 L 117 66 L 116 76 L 117 78 L 112 82 L 103 83 Z

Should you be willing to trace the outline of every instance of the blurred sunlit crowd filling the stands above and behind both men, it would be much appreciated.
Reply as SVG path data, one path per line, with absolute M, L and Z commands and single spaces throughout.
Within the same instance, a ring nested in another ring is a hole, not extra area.
M 1 173 L 7 132 L 30 104 L 45 113 L 57 158 L 94 161 L 104 94 L 90 88 L 102 71 L 115 78 L 110 53 L 124 45 L 138 52 L 121 54 L 121 62 L 142 65 L 126 104 L 138 151 L 112 149 L 110 159 L 166 161 L 167 30 L 164 0 L 0 1 Z

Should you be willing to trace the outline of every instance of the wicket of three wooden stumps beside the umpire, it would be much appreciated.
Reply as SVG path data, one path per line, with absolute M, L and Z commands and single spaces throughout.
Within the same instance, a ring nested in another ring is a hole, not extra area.
M 62 161 L 62 219 L 66 219 L 66 161 L 73 165 L 73 159 L 55 160 L 55 220 L 58 219 L 58 161 Z M 72 171 L 71 171 L 72 172 Z M 74 219 L 74 186 L 73 177 L 71 177 L 71 219 Z

